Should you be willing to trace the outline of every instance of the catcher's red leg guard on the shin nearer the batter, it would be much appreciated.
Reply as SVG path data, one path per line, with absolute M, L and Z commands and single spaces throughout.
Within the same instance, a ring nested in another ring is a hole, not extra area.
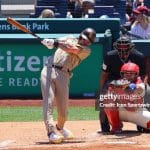
M 108 120 L 112 126 L 112 131 L 118 131 L 122 129 L 122 122 L 119 118 L 119 110 L 118 109 L 105 109 Z

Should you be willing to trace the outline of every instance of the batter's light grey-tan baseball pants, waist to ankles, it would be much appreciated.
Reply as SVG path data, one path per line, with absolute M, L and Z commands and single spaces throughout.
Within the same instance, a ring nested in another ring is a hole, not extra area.
M 53 121 L 54 100 L 56 100 L 58 119 L 57 127 L 62 129 L 67 120 L 69 98 L 69 74 L 52 64 L 44 66 L 41 72 L 44 122 L 48 133 L 55 130 Z

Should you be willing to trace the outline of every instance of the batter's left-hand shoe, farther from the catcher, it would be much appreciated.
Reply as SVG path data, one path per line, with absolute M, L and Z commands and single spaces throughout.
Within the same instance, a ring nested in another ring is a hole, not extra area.
M 63 136 L 59 135 L 55 132 L 51 132 L 48 134 L 49 142 L 52 144 L 60 144 L 63 141 Z

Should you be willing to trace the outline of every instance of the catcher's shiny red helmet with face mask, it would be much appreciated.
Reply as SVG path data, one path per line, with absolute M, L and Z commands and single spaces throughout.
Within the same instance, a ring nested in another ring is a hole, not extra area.
M 120 74 L 122 78 L 133 81 L 139 75 L 139 71 L 140 68 L 137 64 L 128 62 L 121 67 Z

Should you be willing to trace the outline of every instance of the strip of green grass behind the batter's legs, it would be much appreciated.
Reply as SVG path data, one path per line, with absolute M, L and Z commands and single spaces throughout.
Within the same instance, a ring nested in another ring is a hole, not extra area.
M 54 120 L 57 112 L 54 109 Z M 96 120 L 94 107 L 70 107 L 68 120 Z M 42 107 L 0 107 L 0 122 L 43 121 Z

